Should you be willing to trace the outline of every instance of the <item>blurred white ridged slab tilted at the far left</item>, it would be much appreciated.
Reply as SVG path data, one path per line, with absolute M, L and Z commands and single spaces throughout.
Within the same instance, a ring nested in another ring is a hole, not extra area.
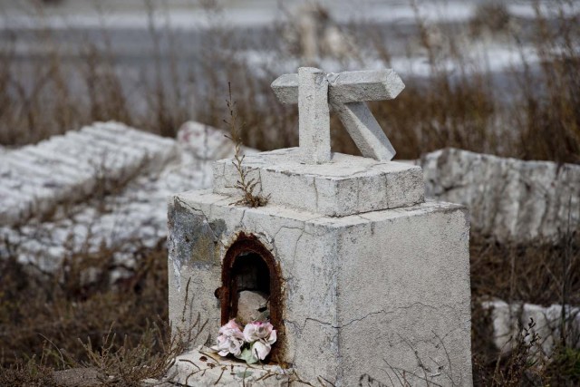
M 42 218 L 63 203 L 160 171 L 177 153 L 175 140 L 117 122 L 0 153 L 0 226 Z

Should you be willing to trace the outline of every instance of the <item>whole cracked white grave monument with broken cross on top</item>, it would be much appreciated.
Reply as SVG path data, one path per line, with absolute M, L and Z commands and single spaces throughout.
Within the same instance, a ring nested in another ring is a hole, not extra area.
M 249 371 L 186 353 L 179 381 L 287 385 L 291 370 L 335 386 L 471 385 L 467 211 L 424 200 L 420 167 L 391 161 L 365 104 L 395 98 L 399 76 L 300 68 L 272 88 L 298 103 L 300 146 L 243 160 L 267 205 L 236 204 L 232 160 L 215 163 L 213 189 L 169 198 L 169 319 L 207 319 L 211 345 L 229 320 L 266 312 L 277 340 Z M 331 151 L 330 111 L 362 157 Z

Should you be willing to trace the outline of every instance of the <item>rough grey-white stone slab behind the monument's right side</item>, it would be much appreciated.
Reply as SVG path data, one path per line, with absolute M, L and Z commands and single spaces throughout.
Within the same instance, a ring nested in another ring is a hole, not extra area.
M 469 208 L 474 231 L 500 241 L 556 240 L 580 227 L 580 166 L 445 149 L 421 160 L 428 198 Z

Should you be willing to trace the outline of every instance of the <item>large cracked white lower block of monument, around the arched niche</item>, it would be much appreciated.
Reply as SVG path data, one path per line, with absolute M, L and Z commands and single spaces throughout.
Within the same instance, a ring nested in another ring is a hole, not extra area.
M 471 385 L 469 219 L 427 202 L 332 218 L 268 205 L 243 208 L 211 190 L 169 199 L 169 319 L 176 329 L 221 322 L 215 293 L 240 233 L 275 257 L 282 307 L 280 363 L 336 386 L 388 382 Z M 186 292 L 187 290 L 187 292 Z M 187 300 L 187 303 L 186 303 Z M 382 371 L 384 370 L 384 371 Z M 414 376 L 417 375 L 417 376 Z

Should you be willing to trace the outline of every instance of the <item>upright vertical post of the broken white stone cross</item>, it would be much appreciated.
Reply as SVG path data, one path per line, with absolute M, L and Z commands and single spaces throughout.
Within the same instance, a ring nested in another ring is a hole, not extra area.
M 313 67 L 298 69 L 298 137 L 306 164 L 330 161 L 328 79 Z

